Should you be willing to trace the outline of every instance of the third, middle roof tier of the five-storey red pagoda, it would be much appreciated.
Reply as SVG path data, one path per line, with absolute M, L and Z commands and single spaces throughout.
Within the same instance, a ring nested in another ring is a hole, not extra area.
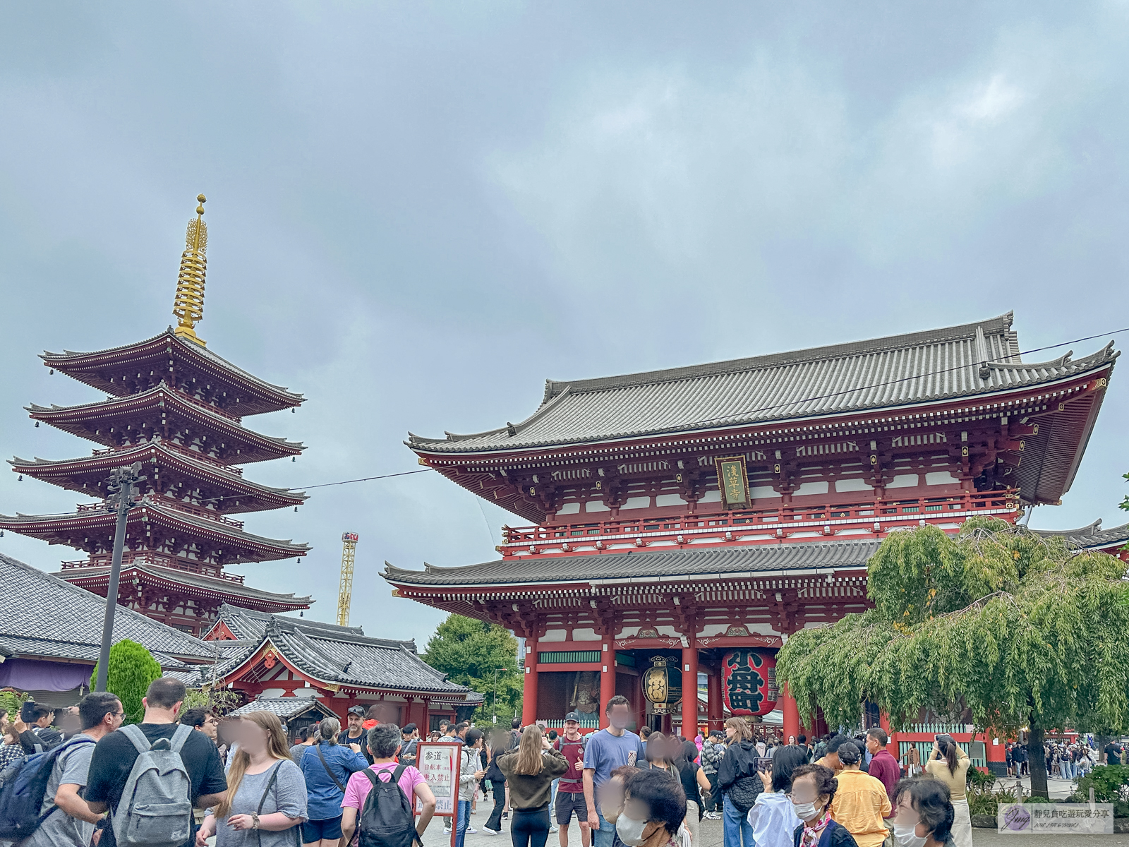
M 297 506 L 308 495 L 288 488 L 272 488 L 245 480 L 242 469 L 219 465 L 205 456 L 184 449 L 170 442 L 156 438 L 148 443 L 134 444 L 122 449 L 98 451 L 93 456 L 79 459 L 9 460 L 12 470 L 53 486 L 81 491 L 90 497 L 104 497 L 103 486 L 115 468 L 143 462 L 146 475 L 142 490 L 154 490 L 154 469 L 159 471 L 160 490 L 187 481 L 191 488 L 200 488 L 205 499 L 218 497 L 215 512 L 233 515 L 245 512 Z

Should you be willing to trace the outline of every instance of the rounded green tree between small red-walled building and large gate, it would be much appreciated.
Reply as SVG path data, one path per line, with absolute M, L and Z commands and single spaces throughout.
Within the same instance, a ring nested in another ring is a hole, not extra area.
M 496 714 L 496 676 L 499 723 L 508 724 L 515 710 L 520 714 L 524 686 L 517 672 L 517 639 L 502 627 L 461 614 L 448 615 L 428 639 L 423 661 L 446 673 L 452 682 L 484 695 L 485 700 L 474 713 L 476 723 L 490 723 Z

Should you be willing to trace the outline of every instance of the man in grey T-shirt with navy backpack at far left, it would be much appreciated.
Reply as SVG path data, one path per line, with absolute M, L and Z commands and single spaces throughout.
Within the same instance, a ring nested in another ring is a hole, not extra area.
M 25 759 L 0 789 L 3 829 L 28 832 L 16 847 L 87 847 L 102 819 L 81 792 L 96 742 L 122 723 L 122 704 L 111 693 L 93 693 L 79 704 L 81 731 L 50 751 Z M 23 796 L 20 796 L 23 795 Z M 28 800 L 27 802 L 20 802 Z M 15 835 L 0 832 L 0 838 Z

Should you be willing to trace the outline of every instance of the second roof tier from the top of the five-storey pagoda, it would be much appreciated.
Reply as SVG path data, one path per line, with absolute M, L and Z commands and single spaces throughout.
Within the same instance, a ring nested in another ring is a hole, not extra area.
M 209 455 L 227 464 L 264 462 L 295 456 L 299 442 L 261 435 L 228 414 L 201 404 L 176 388 L 160 384 L 123 398 L 80 405 L 29 405 L 30 417 L 80 438 L 120 447 L 156 434 L 174 443 L 200 442 Z M 184 435 L 187 433 L 187 435 Z M 196 445 L 199 446 L 199 445 Z

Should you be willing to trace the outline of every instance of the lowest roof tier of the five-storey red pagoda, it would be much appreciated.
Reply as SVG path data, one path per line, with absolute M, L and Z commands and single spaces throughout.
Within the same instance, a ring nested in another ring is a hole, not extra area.
M 65 579 L 71 585 L 79 585 L 102 595 L 106 594 L 110 585 L 108 567 L 64 568 L 54 576 Z M 235 603 L 260 612 L 291 612 L 296 609 L 309 609 L 309 604 L 314 602 L 312 597 L 299 597 L 292 593 L 275 594 L 252 588 L 230 579 L 192 574 L 177 568 L 165 568 L 137 560 L 122 566 L 120 584 L 176 592 L 204 603 Z

